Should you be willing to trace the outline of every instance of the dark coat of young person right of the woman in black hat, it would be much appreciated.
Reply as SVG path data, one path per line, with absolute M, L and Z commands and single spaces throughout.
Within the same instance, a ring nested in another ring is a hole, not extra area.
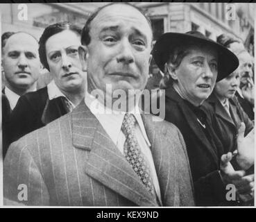
M 237 134 L 241 122 L 246 125 L 245 136 L 254 127 L 253 121 L 249 119 L 235 97 L 229 99 L 229 103 L 231 117 L 214 93 L 203 103 L 203 106 L 209 112 L 207 117 L 211 118 L 212 127 L 221 139 L 225 153 L 233 152 L 237 148 Z

